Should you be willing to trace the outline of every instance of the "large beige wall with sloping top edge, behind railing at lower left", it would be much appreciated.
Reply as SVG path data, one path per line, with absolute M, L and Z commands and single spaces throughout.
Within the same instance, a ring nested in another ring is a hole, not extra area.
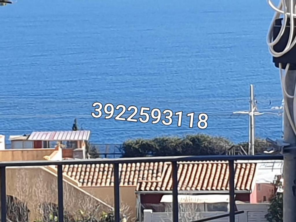
M 15 151 L 14 151 L 15 152 Z M 57 204 L 57 175 L 45 167 L 9 167 L 6 170 L 7 195 L 28 204 L 30 221 L 41 218 L 40 205 L 44 202 Z M 64 209 L 70 213 L 78 210 L 110 210 L 111 206 L 66 180 L 63 182 Z

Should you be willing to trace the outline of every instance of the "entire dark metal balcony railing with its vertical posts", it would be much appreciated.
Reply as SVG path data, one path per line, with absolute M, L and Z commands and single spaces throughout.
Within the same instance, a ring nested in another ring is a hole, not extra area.
M 118 158 L 118 159 L 82 159 L 82 160 L 62 160 L 62 161 L 13 161 L 0 162 L 1 173 L 1 222 L 6 220 L 6 167 L 22 166 L 47 166 L 57 165 L 57 187 L 58 187 L 58 221 L 64 221 L 63 207 L 63 172 L 62 165 L 75 164 L 113 164 L 114 165 L 114 215 L 115 221 L 120 221 L 120 193 L 119 193 L 119 164 L 120 163 L 172 163 L 172 181 L 173 181 L 173 222 L 178 222 L 178 162 L 184 161 L 228 161 L 229 162 L 229 222 L 235 222 L 235 215 L 242 212 L 235 212 L 234 200 L 234 161 L 236 160 L 283 160 L 281 155 L 255 155 L 255 156 L 175 156 L 175 157 L 141 157 L 141 158 Z M 221 218 L 221 216 L 219 216 Z M 199 221 L 210 221 L 215 218 L 206 218 Z

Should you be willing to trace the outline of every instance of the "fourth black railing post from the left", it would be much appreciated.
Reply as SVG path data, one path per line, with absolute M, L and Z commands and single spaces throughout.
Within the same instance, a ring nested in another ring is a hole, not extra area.
M 172 162 L 172 180 L 173 180 L 173 222 L 179 221 L 179 204 L 178 204 L 178 165 Z

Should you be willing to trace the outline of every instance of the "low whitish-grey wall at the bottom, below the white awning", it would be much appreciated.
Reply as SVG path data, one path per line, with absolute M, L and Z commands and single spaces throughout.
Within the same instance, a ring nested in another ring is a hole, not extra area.
M 238 210 L 244 210 L 244 213 L 236 215 L 236 222 L 267 222 L 264 215 L 267 213 L 268 204 L 237 204 Z M 226 214 L 227 212 L 196 212 L 196 213 L 179 213 L 179 221 L 194 221 L 202 218 L 213 217 L 216 215 Z M 171 222 L 172 213 L 155 212 L 144 210 L 144 222 Z M 188 220 L 184 219 L 188 218 Z M 229 217 L 224 217 L 211 222 L 228 222 Z

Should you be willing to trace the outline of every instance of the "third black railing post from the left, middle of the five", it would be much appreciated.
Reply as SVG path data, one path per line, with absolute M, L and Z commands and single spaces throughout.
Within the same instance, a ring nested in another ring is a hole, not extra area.
M 115 222 L 120 222 L 119 164 L 114 163 L 114 216 Z

